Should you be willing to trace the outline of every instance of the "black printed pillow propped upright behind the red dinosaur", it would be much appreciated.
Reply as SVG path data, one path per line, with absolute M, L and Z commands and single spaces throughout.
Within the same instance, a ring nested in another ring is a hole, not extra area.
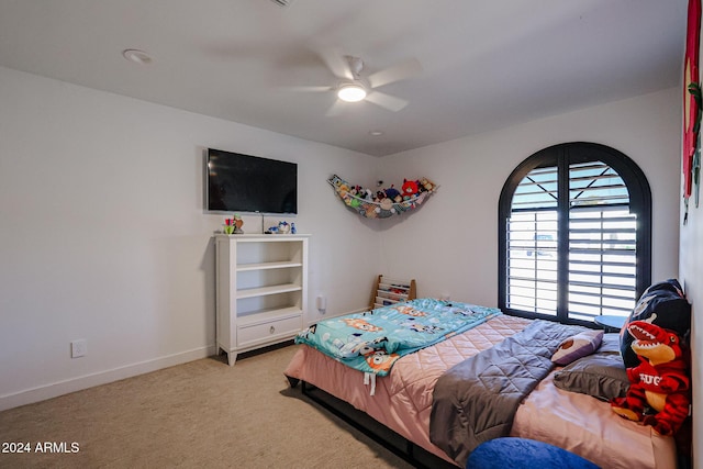
M 631 348 L 634 337 L 627 332 L 627 325 L 633 321 L 649 321 L 676 332 L 685 340 L 691 330 L 691 305 L 683 297 L 679 281 L 669 279 L 650 286 L 625 321 L 620 332 L 620 350 L 627 368 L 639 365 L 637 355 Z

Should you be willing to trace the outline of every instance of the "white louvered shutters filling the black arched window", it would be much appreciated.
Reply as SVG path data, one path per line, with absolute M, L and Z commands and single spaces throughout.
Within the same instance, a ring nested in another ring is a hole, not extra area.
M 534 168 L 513 192 L 504 306 L 581 321 L 627 315 L 637 291 L 637 216 L 627 186 L 599 160 L 559 169 L 557 161 Z

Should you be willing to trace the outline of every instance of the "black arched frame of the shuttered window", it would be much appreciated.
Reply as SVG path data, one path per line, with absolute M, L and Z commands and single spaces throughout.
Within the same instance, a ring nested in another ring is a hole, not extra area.
M 606 145 L 590 142 L 571 142 L 553 145 L 527 157 L 509 176 L 499 200 L 499 271 L 498 305 L 512 315 L 559 321 L 568 324 L 592 325 L 591 322 L 568 316 L 568 264 L 569 264 L 569 166 L 578 163 L 602 161 L 613 168 L 629 192 L 629 211 L 637 214 L 635 298 L 639 298 L 651 283 L 651 189 L 649 182 L 627 155 Z M 513 194 L 521 181 L 535 168 L 557 167 L 558 222 L 557 222 L 557 314 L 556 316 L 516 310 L 506 306 L 507 295 L 507 220 L 512 213 Z M 566 177 L 565 177 L 566 175 Z

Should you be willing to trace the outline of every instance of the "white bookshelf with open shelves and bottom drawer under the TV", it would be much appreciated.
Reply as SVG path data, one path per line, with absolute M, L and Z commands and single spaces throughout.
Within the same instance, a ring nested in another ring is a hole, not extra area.
M 234 365 L 237 353 L 288 340 L 308 310 L 310 235 L 216 235 L 217 353 Z

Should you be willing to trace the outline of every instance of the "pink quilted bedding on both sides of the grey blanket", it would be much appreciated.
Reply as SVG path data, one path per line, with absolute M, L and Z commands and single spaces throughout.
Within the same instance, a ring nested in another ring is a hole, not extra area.
M 378 377 L 375 395 L 370 395 L 369 386 L 364 383 L 364 373 L 304 345 L 299 346 L 284 373 L 350 403 L 417 446 L 453 462 L 429 442 L 435 382 L 447 369 L 522 331 L 527 324 L 529 320 L 500 315 L 464 334 L 402 357 L 389 376 Z M 551 384 L 550 378 L 521 405 L 512 435 L 551 443 L 601 467 L 676 467 L 672 438 L 658 436 L 650 427 L 616 416 L 607 403 L 585 394 L 561 391 Z

